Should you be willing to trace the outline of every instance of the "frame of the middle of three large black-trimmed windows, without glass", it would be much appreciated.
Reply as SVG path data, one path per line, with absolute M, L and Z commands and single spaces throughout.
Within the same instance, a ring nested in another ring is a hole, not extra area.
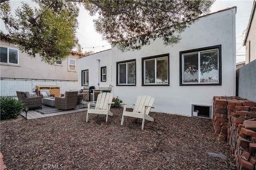
M 168 63 L 167 63 L 167 77 L 168 77 L 168 82 L 167 83 L 156 83 L 156 79 L 157 79 L 157 60 L 158 59 L 162 59 L 162 58 L 167 58 L 168 60 Z M 154 59 L 154 64 L 155 64 L 155 70 L 154 70 L 154 74 L 155 74 L 155 79 L 154 79 L 154 82 L 155 83 L 146 83 L 146 61 L 148 60 L 153 60 Z M 169 75 L 169 72 L 170 72 L 170 64 L 169 64 L 169 54 L 162 54 L 162 55 L 155 55 L 155 56 L 151 56 L 151 57 L 145 57 L 145 58 L 142 58 L 142 63 L 143 63 L 143 73 L 142 73 L 142 85 L 169 85 L 170 84 L 170 75 Z

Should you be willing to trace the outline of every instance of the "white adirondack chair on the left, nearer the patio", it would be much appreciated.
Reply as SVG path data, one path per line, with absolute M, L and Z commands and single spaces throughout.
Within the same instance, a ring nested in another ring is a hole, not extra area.
M 106 123 L 107 123 L 108 115 L 113 116 L 113 113 L 110 112 L 111 104 L 114 104 L 114 102 L 112 102 L 112 99 L 113 99 L 112 93 L 100 93 L 96 101 L 95 109 L 90 109 L 90 103 L 95 103 L 95 102 L 84 102 L 84 103 L 87 103 L 88 105 L 86 123 L 88 122 L 89 113 L 106 115 Z

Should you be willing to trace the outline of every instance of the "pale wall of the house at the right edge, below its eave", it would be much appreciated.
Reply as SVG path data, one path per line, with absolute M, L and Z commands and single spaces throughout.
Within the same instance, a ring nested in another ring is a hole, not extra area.
M 256 3 L 256 2 L 254 2 Z M 252 22 L 250 23 L 250 30 L 246 34 L 248 34 L 246 39 L 246 55 L 245 55 L 245 63 L 248 64 L 251 61 L 256 59 L 256 10 L 254 11 L 254 14 L 252 14 Z M 250 41 L 250 47 L 249 47 L 249 41 Z M 250 50 L 250 52 L 249 52 Z M 249 53 L 250 53 L 250 60 L 249 60 Z

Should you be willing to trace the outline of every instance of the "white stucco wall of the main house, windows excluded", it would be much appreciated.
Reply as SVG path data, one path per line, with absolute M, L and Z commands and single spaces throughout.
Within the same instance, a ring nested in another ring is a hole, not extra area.
M 192 104 L 212 106 L 213 96 L 235 95 L 235 11 L 232 8 L 200 18 L 181 34 L 182 40 L 176 45 L 164 46 L 162 40 L 156 40 L 139 51 L 122 53 L 112 48 L 83 57 L 82 61 L 79 59 L 79 69 L 89 69 L 89 85 L 96 85 L 97 74 L 92 72 L 98 73 L 96 59 L 102 59 L 106 63 L 100 63 L 100 67 L 107 65 L 108 74 L 108 67 L 112 65 L 112 79 L 107 77 L 106 85 L 114 85 L 114 97 L 118 96 L 124 103 L 134 103 L 139 95 L 150 95 L 155 98 L 152 111 L 191 116 Z M 179 52 L 214 45 L 222 45 L 222 85 L 180 86 Z M 142 58 L 166 53 L 170 55 L 170 86 L 142 86 Z M 108 59 L 104 58 L 107 56 Z M 136 86 L 116 86 L 116 62 L 130 59 L 136 59 Z M 79 81 L 80 85 L 80 78 Z

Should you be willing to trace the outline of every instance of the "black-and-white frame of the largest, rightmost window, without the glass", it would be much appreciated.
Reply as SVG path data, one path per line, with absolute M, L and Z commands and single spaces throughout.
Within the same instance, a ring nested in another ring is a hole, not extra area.
M 201 71 L 200 71 L 200 53 L 218 50 L 218 82 L 200 82 Z M 221 85 L 221 45 L 216 45 L 212 47 L 204 47 L 200 49 L 188 50 L 190 52 L 181 51 L 180 52 L 180 85 Z M 184 55 L 198 55 L 198 82 L 184 82 Z

